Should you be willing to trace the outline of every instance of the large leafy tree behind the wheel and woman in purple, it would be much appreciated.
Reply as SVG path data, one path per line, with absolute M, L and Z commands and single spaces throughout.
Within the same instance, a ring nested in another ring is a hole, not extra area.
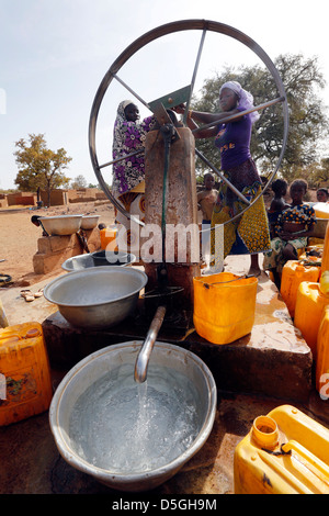
M 283 176 L 292 173 L 296 167 L 306 167 L 318 159 L 319 143 L 328 137 L 329 124 L 327 108 L 317 92 L 325 80 L 316 58 L 302 55 L 281 55 L 275 67 L 282 78 L 290 106 L 290 132 L 283 158 Z M 260 66 L 240 67 L 234 70 L 226 67 L 222 74 L 206 79 L 198 99 L 193 99 L 193 109 L 218 111 L 219 87 L 227 80 L 239 81 L 252 92 L 254 105 L 279 97 L 274 80 L 268 69 Z M 260 111 L 260 120 L 254 124 L 251 139 L 251 154 L 264 176 L 269 176 L 277 161 L 283 143 L 282 105 L 275 104 Z M 196 147 L 220 169 L 219 153 L 209 141 L 196 141 Z M 207 167 L 197 160 L 197 168 Z

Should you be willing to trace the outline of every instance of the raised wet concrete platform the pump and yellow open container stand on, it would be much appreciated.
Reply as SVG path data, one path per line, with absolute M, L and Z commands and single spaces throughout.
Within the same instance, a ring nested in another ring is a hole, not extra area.
M 235 261 L 228 261 L 226 270 L 234 269 Z M 145 318 L 144 301 L 134 317 L 102 332 L 75 328 L 55 312 L 43 322 L 50 363 L 67 370 L 100 348 L 144 340 L 150 321 Z M 202 358 L 222 391 L 303 401 L 311 390 L 310 349 L 265 273 L 259 277 L 251 334 L 228 345 L 214 345 L 197 335 L 193 313 L 185 312 L 183 321 L 163 324 L 157 340 L 182 346 Z

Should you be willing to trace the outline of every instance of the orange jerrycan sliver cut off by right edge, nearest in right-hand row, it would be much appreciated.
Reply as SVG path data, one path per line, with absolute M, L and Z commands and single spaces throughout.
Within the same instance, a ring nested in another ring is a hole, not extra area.
M 329 304 L 325 306 L 317 338 L 316 389 L 329 399 Z

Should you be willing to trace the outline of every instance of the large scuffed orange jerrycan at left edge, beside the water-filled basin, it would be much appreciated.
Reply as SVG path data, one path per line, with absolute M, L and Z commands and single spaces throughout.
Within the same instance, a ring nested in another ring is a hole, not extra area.
M 25 323 L 0 329 L 0 426 L 47 411 L 52 397 L 42 326 Z

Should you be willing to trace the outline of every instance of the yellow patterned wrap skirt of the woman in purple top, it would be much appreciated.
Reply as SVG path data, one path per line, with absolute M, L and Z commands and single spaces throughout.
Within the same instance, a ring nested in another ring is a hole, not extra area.
M 262 190 L 261 179 L 252 159 L 223 173 L 249 202 Z M 224 242 L 217 242 L 216 232 L 212 231 L 212 258 L 215 262 L 220 262 L 227 255 L 254 255 L 271 249 L 269 221 L 262 197 L 243 215 L 228 222 L 246 207 L 247 204 L 223 182 L 212 216 L 212 227 L 226 223 Z

